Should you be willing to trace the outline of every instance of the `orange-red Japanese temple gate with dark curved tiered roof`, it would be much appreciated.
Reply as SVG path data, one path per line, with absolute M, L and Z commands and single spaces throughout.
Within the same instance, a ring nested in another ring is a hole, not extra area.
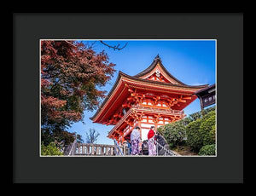
M 142 140 L 148 130 L 185 117 L 183 108 L 197 98 L 195 91 L 206 85 L 187 85 L 174 78 L 162 65 L 159 55 L 143 72 L 119 76 L 102 105 L 90 119 L 94 123 L 114 125 L 108 137 L 123 143 L 136 126 Z

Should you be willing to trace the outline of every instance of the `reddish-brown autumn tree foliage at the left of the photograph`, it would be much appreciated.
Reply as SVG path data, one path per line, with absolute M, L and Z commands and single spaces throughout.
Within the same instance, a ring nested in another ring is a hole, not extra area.
M 82 120 L 105 97 L 114 64 L 77 41 L 41 41 L 41 124 L 44 133 L 64 130 Z

